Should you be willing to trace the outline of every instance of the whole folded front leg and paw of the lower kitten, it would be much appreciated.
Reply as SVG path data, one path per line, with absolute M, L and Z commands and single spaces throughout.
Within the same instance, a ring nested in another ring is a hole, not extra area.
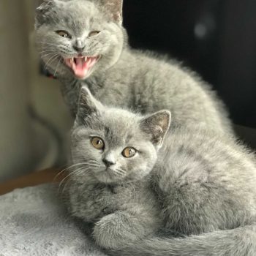
M 102 248 L 117 249 L 154 233 L 159 228 L 159 223 L 155 217 L 141 210 L 140 206 L 136 206 L 100 219 L 93 233 L 97 244 Z

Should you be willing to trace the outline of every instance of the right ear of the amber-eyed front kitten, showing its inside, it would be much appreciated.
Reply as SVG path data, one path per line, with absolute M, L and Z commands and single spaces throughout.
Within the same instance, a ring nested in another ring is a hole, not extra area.
M 161 110 L 150 116 L 146 116 L 140 121 L 143 132 L 151 135 L 151 142 L 160 148 L 165 138 L 165 134 L 170 127 L 171 114 L 168 110 Z

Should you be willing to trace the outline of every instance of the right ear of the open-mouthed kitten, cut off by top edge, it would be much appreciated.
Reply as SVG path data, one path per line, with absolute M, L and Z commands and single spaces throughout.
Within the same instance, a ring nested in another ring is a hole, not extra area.
M 123 0 L 102 0 L 102 3 L 110 12 L 113 20 L 116 20 L 121 25 L 123 22 Z

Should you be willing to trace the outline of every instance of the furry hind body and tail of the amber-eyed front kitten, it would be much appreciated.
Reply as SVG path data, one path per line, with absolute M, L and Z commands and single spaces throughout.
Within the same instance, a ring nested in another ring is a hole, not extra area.
M 225 138 L 197 132 L 176 129 L 166 138 L 165 157 L 154 173 L 165 228 L 185 237 L 127 242 L 110 255 L 256 255 L 255 156 Z

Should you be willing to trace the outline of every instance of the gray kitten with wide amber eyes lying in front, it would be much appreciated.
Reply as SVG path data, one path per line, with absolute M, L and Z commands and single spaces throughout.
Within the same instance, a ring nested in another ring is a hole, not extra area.
M 110 255 L 255 256 L 255 156 L 201 127 L 169 126 L 168 110 L 109 108 L 83 88 L 69 211 Z

